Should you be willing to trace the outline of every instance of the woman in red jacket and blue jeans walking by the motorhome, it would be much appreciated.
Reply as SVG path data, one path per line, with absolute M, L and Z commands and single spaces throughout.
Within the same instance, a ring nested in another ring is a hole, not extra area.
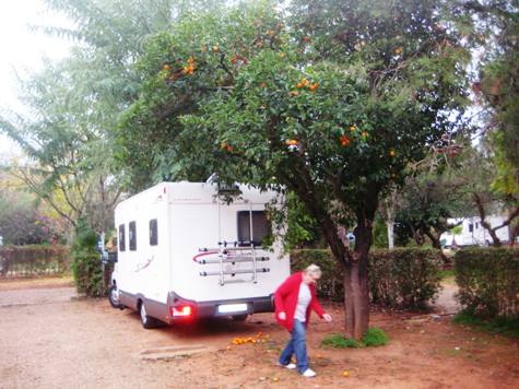
M 314 377 L 316 373 L 308 367 L 306 353 L 306 329 L 314 309 L 320 318 L 330 322 L 331 316 L 325 313 L 316 297 L 316 282 L 321 278 L 321 269 L 310 264 L 303 272 L 288 276 L 274 294 L 275 318 L 292 334 L 291 340 L 281 353 L 280 365 L 293 369 L 305 377 Z M 293 364 L 295 354 L 297 365 Z

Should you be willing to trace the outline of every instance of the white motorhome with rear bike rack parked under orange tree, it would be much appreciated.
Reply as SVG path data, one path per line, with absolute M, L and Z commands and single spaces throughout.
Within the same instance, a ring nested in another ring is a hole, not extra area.
M 261 246 L 266 205 L 279 194 L 237 188 L 227 203 L 215 184 L 163 182 L 119 203 L 110 304 L 138 310 L 144 328 L 272 311 L 290 274 L 281 243 Z

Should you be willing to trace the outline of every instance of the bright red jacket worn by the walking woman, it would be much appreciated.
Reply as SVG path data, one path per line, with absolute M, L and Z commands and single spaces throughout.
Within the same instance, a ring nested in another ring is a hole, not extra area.
M 303 282 L 303 272 L 297 272 L 288 276 L 281 285 L 278 287 L 274 294 L 275 303 L 275 319 L 278 322 L 285 327 L 288 331 L 292 331 L 294 326 L 294 315 L 297 306 L 297 298 L 299 296 L 299 286 Z M 314 284 L 308 285 L 310 288 L 311 300 L 306 309 L 306 322 L 308 326 L 310 321 L 311 309 L 316 311 L 319 317 L 325 315 L 325 309 L 319 305 L 319 302 L 316 297 L 316 286 Z M 286 314 L 286 320 L 281 320 L 279 317 L 280 313 Z

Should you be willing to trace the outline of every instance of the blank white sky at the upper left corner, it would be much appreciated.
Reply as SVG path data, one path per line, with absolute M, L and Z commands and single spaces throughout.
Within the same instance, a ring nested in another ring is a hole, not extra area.
M 43 0 L 0 0 L 0 115 L 24 114 L 17 99 L 17 79 L 42 69 L 42 59 L 59 60 L 67 56 L 71 43 L 31 31 L 37 26 L 70 26 L 62 15 L 48 11 Z M 0 134 L 0 156 L 16 155 L 20 150 Z

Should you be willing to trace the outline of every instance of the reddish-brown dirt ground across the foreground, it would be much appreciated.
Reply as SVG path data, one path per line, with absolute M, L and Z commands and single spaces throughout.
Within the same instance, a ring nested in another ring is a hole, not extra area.
M 76 298 L 68 285 L 36 285 L 0 287 L 0 388 L 519 388 L 519 341 L 449 316 L 374 313 L 370 325 L 390 335 L 388 345 L 331 350 L 320 342 L 341 332 L 343 311 L 328 305 L 334 321 L 312 317 L 308 334 L 318 376 L 303 378 L 274 365 L 287 333 L 271 314 L 144 330 L 131 310 Z M 248 337 L 264 342 L 232 344 Z M 141 354 L 197 344 L 207 351 L 156 361 Z

